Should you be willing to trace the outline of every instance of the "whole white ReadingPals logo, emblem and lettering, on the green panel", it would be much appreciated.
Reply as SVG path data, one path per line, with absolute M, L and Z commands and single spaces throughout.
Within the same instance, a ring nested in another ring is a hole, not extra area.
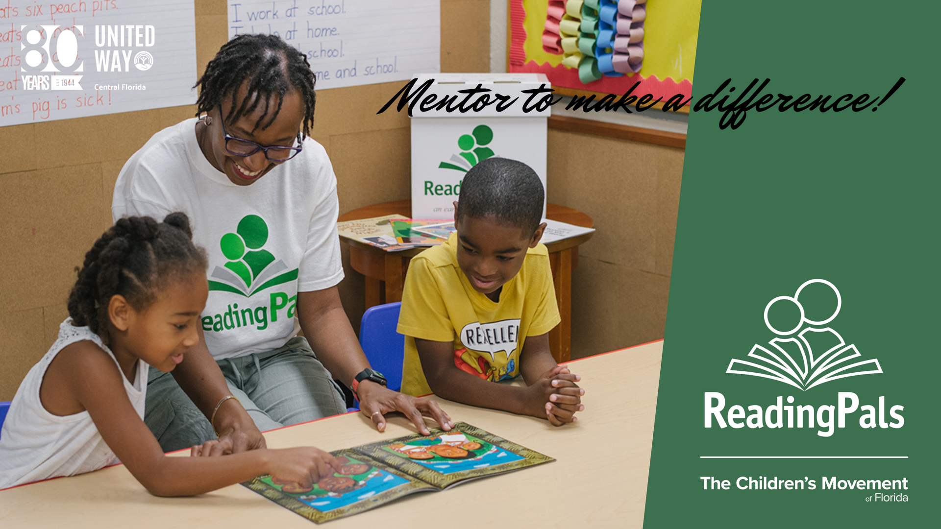
M 805 299 L 802 299 L 802 295 Z M 809 299 L 806 299 L 809 298 Z M 829 298 L 829 302 L 821 301 Z M 843 337 L 829 327 L 842 307 L 842 297 L 836 285 L 830 281 L 816 279 L 805 281 L 793 296 L 772 299 L 764 310 L 764 323 L 779 337 L 768 342 L 770 347 L 754 345 L 749 360 L 733 359 L 726 373 L 748 375 L 784 382 L 807 392 L 833 380 L 882 374 L 878 359 L 861 360 L 856 345 L 846 345 Z M 817 435 L 830 437 L 834 428 L 846 427 L 848 416 L 861 412 L 861 428 L 901 428 L 905 424 L 901 416 L 903 406 L 892 406 L 886 416 L 885 395 L 878 402 L 860 406 L 859 395 L 853 392 L 838 392 L 835 404 L 790 406 L 795 402 L 788 395 L 788 406 L 784 395 L 779 395 L 774 404 L 763 408 L 760 405 L 746 407 L 734 405 L 726 409 L 726 396 L 719 392 L 704 393 L 704 426 L 713 424 L 720 428 L 814 428 Z M 816 424 L 816 426 L 815 426 Z

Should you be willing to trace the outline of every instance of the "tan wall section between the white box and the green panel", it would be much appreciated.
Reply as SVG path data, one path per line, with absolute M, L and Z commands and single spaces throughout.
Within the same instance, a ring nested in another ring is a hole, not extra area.
M 572 271 L 572 358 L 663 337 L 684 150 L 549 130 L 550 202 L 597 232 Z

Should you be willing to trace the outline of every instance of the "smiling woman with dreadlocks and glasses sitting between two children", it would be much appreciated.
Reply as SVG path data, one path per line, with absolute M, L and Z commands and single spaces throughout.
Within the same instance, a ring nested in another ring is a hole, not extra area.
M 150 373 L 145 421 L 164 450 L 216 437 L 228 441 L 216 450 L 263 447 L 260 430 L 343 412 L 334 378 L 380 431 L 392 411 L 423 433 L 423 415 L 452 425 L 434 401 L 385 387 L 343 312 L 336 177 L 309 137 L 314 81 L 279 37 L 238 36 L 197 82 L 197 118 L 120 171 L 116 221 L 182 211 L 209 257 L 199 343 L 172 375 Z

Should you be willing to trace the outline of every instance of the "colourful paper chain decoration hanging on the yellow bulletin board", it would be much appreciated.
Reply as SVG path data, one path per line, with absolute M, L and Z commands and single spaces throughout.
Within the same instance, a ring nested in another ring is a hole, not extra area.
M 646 0 L 549 0 L 542 49 L 587 85 L 641 71 Z

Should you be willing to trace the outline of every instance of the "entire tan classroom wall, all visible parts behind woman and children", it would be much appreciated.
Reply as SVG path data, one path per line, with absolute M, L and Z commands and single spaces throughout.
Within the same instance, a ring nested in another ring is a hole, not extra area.
M 489 4 L 441 0 L 442 72 L 489 70 Z M 201 72 L 228 39 L 226 2 L 197 0 L 196 28 Z M 375 115 L 400 86 L 317 93 L 312 136 L 333 161 L 341 213 L 409 196 L 408 118 Z M 0 400 L 13 397 L 55 341 L 74 267 L 111 225 L 121 166 L 194 112 L 179 106 L 0 127 Z M 573 356 L 662 338 L 683 152 L 556 130 L 549 152 L 549 200 L 581 209 L 598 228 L 573 276 Z M 362 279 L 345 248 L 344 264 L 341 295 L 359 329 Z

